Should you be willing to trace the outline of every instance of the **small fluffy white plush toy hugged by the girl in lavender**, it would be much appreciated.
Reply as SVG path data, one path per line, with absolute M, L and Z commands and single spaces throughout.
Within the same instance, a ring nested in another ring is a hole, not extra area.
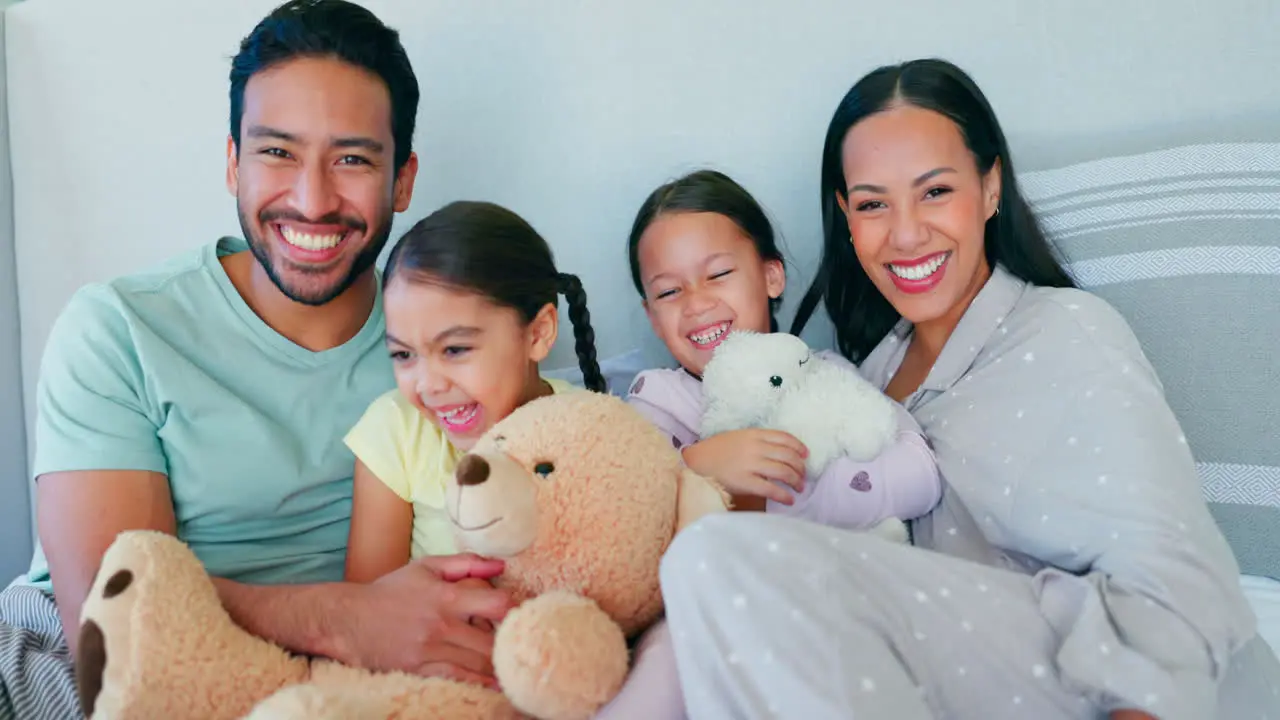
M 783 430 L 809 450 L 810 477 L 841 455 L 873 460 L 897 434 L 897 411 L 884 393 L 794 334 L 731 332 L 703 370 L 703 392 L 701 437 Z

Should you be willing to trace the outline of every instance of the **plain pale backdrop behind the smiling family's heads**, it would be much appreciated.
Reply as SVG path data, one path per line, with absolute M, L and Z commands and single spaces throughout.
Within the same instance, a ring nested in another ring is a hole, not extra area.
M 26 392 L 76 287 L 238 231 L 223 187 L 228 59 L 274 0 L 38 0 L 8 27 Z M 507 204 L 584 275 L 602 354 L 648 342 L 623 241 L 659 182 L 746 184 L 817 259 L 818 155 L 847 87 L 941 55 L 988 92 L 1023 169 L 1181 141 L 1280 138 L 1270 0 L 383 0 L 422 86 L 398 229 Z M 93 58 L 92 60 L 88 60 Z M 568 343 L 556 356 L 571 364 Z M 28 410 L 31 404 L 28 402 Z

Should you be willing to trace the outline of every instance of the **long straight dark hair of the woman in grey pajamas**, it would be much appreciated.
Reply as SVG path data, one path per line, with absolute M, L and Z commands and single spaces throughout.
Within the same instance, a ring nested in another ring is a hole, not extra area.
M 854 255 L 849 224 L 837 202 L 847 201 L 842 146 L 849 131 L 868 115 L 896 105 L 915 105 L 950 118 L 986 176 L 1000 160 L 1000 204 L 987 220 L 987 263 L 1033 284 L 1075 287 L 1018 188 L 1014 163 L 996 113 L 977 83 L 946 60 L 911 60 L 870 72 L 841 99 L 822 150 L 822 263 L 796 310 L 791 332 L 800 334 L 822 300 L 836 327 L 841 355 L 867 357 L 901 315 L 872 284 Z

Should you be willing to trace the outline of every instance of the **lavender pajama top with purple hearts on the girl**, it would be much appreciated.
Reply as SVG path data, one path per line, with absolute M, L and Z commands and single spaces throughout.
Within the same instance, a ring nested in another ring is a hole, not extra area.
M 858 373 L 852 363 L 835 352 L 818 355 Z M 703 383 L 687 372 L 655 369 L 637 374 L 627 402 L 669 434 L 676 447 L 701 439 L 698 427 L 703 414 Z M 895 407 L 897 442 L 869 462 L 837 459 L 817 482 L 806 478 L 794 505 L 771 500 L 765 511 L 822 525 L 863 529 L 886 518 L 910 520 L 932 510 L 942 497 L 937 461 L 911 414 L 899 404 Z

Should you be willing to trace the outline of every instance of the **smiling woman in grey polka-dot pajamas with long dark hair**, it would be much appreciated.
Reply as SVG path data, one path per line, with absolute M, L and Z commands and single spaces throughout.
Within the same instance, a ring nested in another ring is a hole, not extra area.
M 823 300 L 947 487 L 918 547 L 755 514 L 682 533 L 663 588 L 690 716 L 1280 708 L 1160 382 L 1055 260 L 978 87 L 937 60 L 859 81 L 828 128 L 822 205 L 792 332 Z

